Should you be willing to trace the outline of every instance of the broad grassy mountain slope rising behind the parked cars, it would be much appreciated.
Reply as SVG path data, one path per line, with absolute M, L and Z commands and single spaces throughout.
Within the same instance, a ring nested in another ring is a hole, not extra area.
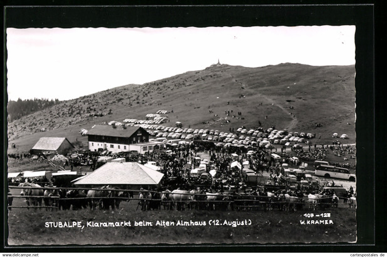
M 167 126 L 180 121 L 183 127 L 228 131 L 242 125 L 255 128 L 260 121 L 264 128 L 275 125 L 317 137 L 321 134 L 313 143 L 331 142 L 334 132 L 348 134 L 348 140 L 354 142 L 354 74 L 354 65 L 212 65 L 143 85 L 101 91 L 22 117 L 9 123 L 9 143 L 19 146 L 18 151 L 28 151 L 42 136 L 86 142 L 78 134 L 80 128 L 126 118 L 145 120 L 147 113 L 158 110 L 173 110 Z M 94 117 L 97 113 L 104 116 Z M 322 127 L 315 127 L 319 122 Z M 38 132 L 43 127 L 48 131 Z

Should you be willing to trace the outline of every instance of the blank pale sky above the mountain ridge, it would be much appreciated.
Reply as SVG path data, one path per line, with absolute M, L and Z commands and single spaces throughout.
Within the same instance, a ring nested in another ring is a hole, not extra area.
M 68 100 L 221 63 L 355 64 L 355 26 L 7 29 L 11 100 Z

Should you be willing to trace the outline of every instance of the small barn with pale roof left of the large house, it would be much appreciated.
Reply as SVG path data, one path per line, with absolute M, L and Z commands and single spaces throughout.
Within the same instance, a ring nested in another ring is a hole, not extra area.
M 65 137 L 41 137 L 31 149 L 32 154 L 50 153 L 50 154 L 67 154 L 74 146 Z

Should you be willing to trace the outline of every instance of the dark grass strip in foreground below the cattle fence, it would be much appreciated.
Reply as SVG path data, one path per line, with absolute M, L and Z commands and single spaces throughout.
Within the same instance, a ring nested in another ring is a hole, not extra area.
M 20 189 L 12 189 L 20 194 Z M 136 244 L 233 244 L 233 243 L 349 243 L 356 241 L 356 210 L 348 205 L 324 211 L 309 209 L 296 212 L 279 211 L 140 211 L 138 200 L 122 202 L 119 210 L 103 211 L 82 209 L 46 211 L 43 209 L 16 209 L 9 211 L 9 245 L 136 245 Z M 25 206 L 24 199 L 15 198 L 14 206 Z M 307 218 L 304 214 L 330 213 L 329 218 Z M 232 221 L 247 225 L 233 226 Z M 210 220 L 231 225 L 209 224 Z M 300 221 L 331 220 L 333 224 L 301 224 Z M 84 228 L 46 227 L 46 222 L 80 221 Z M 87 227 L 87 222 L 130 221 L 131 226 Z M 134 226 L 134 221 L 151 222 L 152 226 Z M 174 221 L 175 226 L 157 226 L 157 221 Z M 203 226 L 179 226 L 178 221 L 193 221 Z M 250 223 L 251 221 L 251 223 Z

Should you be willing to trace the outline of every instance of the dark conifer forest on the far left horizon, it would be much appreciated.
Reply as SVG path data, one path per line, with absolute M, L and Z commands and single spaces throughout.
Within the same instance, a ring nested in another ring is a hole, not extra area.
M 23 116 L 34 113 L 35 111 L 40 111 L 51 106 L 57 105 L 61 103 L 59 99 L 45 99 L 45 98 L 34 98 L 34 99 L 17 99 L 17 101 L 9 101 L 7 105 L 8 122 L 12 122 L 14 120 L 20 119 Z

